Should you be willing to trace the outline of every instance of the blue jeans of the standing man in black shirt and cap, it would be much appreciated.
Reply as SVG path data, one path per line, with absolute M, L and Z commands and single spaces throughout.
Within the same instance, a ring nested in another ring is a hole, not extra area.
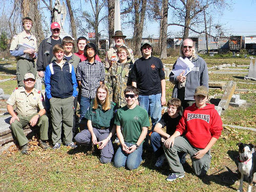
M 139 103 L 147 111 L 148 116 L 151 117 L 153 131 L 155 125 L 161 119 L 161 93 L 156 95 L 139 95 Z

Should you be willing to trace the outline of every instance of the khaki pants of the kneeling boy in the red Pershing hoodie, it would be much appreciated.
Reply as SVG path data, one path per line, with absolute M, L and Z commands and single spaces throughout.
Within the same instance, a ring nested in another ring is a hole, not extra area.
M 177 152 L 185 152 L 190 155 L 192 168 L 197 176 L 201 177 L 206 175 L 207 170 L 210 168 L 210 151 L 208 151 L 201 159 L 194 159 L 194 154 L 202 149 L 190 145 L 185 137 L 176 137 L 174 140 L 174 146 L 171 148 L 163 146 L 163 148 L 169 167 L 172 169 L 172 173 L 175 173 L 177 176 L 185 174 Z

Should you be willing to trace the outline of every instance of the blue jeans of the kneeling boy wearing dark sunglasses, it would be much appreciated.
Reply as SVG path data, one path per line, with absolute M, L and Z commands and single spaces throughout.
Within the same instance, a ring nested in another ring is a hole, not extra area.
M 133 143 L 126 143 L 124 142 L 128 147 L 134 145 Z M 126 167 L 130 170 L 138 168 L 140 166 L 140 163 L 142 161 L 142 144 L 140 147 L 135 150 L 131 154 L 126 154 L 122 150 L 122 145 L 120 145 L 116 151 L 115 158 L 114 158 L 114 166 L 115 167 Z

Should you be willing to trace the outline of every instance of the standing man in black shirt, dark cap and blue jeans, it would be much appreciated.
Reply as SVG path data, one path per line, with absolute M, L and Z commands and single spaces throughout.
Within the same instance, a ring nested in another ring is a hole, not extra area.
M 152 56 L 152 42 L 143 40 L 140 51 L 142 57 L 135 61 L 131 73 L 132 85 L 139 90 L 139 104 L 152 121 L 152 131 L 161 119 L 165 99 L 165 75 L 162 61 Z

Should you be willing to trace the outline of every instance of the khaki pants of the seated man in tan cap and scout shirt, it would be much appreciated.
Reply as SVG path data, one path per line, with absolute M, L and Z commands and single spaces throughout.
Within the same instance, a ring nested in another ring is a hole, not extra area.
M 19 146 L 23 146 L 28 143 L 28 139 L 24 134 L 23 127 L 27 126 L 31 118 L 34 117 L 36 114 L 30 116 L 18 115 L 19 121 L 15 119 L 15 121 L 11 124 L 11 130 L 16 139 L 18 140 Z M 37 120 L 36 125 L 40 127 L 40 139 L 48 140 L 48 117 L 46 115 L 42 115 Z

